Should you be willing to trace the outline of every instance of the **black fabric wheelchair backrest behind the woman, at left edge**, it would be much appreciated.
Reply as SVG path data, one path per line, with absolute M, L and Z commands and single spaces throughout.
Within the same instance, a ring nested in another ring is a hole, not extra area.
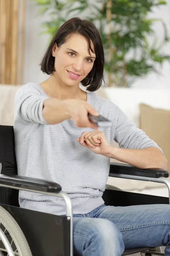
M 17 174 L 13 126 L 0 125 L 0 163 L 1 174 Z M 0 186 L 0 204 L 19 206 L 18 190 Z

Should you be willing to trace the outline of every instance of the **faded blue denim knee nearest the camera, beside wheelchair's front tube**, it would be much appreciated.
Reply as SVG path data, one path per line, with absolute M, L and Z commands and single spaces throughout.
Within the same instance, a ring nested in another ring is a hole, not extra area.
M 121 256 L 124 243 L 121 232 L 107 219 L 73 218 L 76 256 Z

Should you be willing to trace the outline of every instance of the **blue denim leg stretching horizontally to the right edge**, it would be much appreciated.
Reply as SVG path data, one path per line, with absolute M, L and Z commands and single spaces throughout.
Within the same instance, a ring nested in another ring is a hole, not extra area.
M 95 217 L 116 225 L 125 248 L 167 246 L 164 255 L 170 256 L 170 205 L 107 206 Z

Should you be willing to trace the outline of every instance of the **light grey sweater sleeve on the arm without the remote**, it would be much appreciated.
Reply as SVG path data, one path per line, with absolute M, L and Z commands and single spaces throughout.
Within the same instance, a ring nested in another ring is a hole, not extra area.
M 120 148 L 159 148 L 159 146 L 151 140 L 144 131 L 137 128 L 136 125 L 127 118 L 120 108 L 118 108 L 118 119 L 114 140 L 119 143 Z M 159 149 L 161 150 L 161 148 Z

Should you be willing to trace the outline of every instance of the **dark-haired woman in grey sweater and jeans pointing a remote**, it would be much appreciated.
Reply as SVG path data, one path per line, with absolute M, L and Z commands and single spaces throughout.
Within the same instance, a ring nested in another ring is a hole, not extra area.
M 93 24 L 73 18 L 59 28 L 41 63 L 49 78 L 28 83 L 16 94 L 18 174 L 55 181 L 70 195 L 76 255 L 120 256 L 125 248 L 161 245 L 170 255 L 169 205 L 113 207 L 102 200 L 110 158 L 139 168 L 167 168 L 159 146 L 94 92 L 102 84 L 103 65 L 102 41 Z M 98 129 L 88 113 L 100 113 L 112 126 Z M 112 146 L 113 140 L 120 148 Z M 52 196 L 20 191 L 19 202 L 65 214 L 63 201 Z

